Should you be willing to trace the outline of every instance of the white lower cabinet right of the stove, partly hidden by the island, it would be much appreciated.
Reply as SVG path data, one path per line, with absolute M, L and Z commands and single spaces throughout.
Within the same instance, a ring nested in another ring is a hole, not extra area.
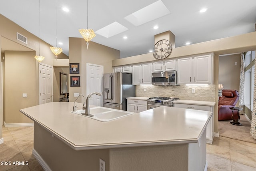
M 214 113 L 213 106 L 204 106 L 204 105 L 190 105 L 190 104 L 180 104 L 180 103 L 174 103 L 173 107 L 180 107 L 180 108 L 186 108 L 186 109 L 196 109 L 196 110 L 204 110 L 204 111 L 211 111 Z M 206 142 L 212 143 L 213 141 L 213 135 L 214 135 L 214 115 L 212 114 L 212 117 L 209 121 L 209 123 L 206 126 Z

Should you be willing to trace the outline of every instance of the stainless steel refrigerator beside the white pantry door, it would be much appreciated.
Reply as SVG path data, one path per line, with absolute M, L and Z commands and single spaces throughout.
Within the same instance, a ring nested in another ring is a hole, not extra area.
M 135 96 L 132 74 L 108 73 L 103 75 L 103 107 L 126 110 L 126 97 Z

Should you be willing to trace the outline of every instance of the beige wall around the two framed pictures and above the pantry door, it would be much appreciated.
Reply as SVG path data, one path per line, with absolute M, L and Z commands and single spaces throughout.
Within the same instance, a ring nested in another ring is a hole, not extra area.
M 80 63 L 80 74 L 72 74 L 72 76 L 80 76 L 81 79 L 80 87 L 69 88 L 70 101 L 76 99 L 76 97 L 73 97 L 74 93 L 80 93 L 86 96 L 86 63 L 101 65 L 104 68 L 103 73 L 108 73 L 113 72 L 112 60 L 116 60 L 119 57 L 119 50 L 95 42 L 89 42 L 89 48 L 87 50 L 84 39 L 69 38 L 69 62 Z M 82 102 L 81 99 L 78 99 L 78 102 Z

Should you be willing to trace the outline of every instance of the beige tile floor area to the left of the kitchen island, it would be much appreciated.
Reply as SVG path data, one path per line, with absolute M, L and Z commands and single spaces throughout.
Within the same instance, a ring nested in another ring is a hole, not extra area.
M 32 155 L 34 127 L 3 127 L 2 131 L 4 143 L 0 144 L 0 171 L 44 170 Z M 15 165 L 13 162 L 16 161 L 21 165 Z M 11 165 L 5 165 L 6 162 Z

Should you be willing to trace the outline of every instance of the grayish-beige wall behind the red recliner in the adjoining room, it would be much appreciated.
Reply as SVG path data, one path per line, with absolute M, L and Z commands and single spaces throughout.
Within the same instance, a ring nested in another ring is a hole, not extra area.
M 236 89 L 239 91 L 241 54 L 220 56 L 219 59 L 219 83 L 224 89 Z M 237 65 L 235 65 L 235 62 Z

